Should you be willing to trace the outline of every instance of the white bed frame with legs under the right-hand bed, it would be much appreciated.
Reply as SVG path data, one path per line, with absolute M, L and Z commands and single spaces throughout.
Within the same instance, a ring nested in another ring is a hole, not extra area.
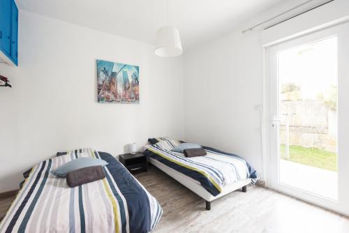
M 206 209 L 211 209 L 211 201 L 216 200 L 219 197 L 223 197 L 224 195 L 227 195 L 228 193 L 231 193 L 232 191 L 235 191 L 239 188 L 242 188 L 242 192 L 246 193 L 247 191 L 247 185 L 248 183 L 251 183 L 251 179 L 245 179 L 241 181 L 237 181 L 235 183 L 226 185 L 223 187 L 222 192 L 219 195 L 211 195 L 204 187 L 201 186 L 199 181 L 195 181 L 195 179 L 186 176 L 182 174 L 181 172 L 177 172 L 176 170 L 172 169 L 171 167 L 168 167 L 164 165 L 163 163 L 160 163 L 158 160 L 154 158 L 149 158 L 149 163 L 154 165 L 155 167 L 158 167 L 161 171 L 165 172 L 169 176 L 171 176 L 173 179 L 181 183 L 182 185 L 186 186 L 186 188 L 189 188 L 194 193 L 202 197 L 206 200 Z

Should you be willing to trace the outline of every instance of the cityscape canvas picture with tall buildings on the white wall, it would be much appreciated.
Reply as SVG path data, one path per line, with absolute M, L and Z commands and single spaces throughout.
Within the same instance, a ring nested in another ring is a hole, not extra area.
M 98 103 L 140 103 L 140 68 L 97 60 Z

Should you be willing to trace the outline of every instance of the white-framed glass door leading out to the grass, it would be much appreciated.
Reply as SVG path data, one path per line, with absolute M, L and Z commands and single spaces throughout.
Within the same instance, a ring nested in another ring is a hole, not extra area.
M 349 135 L 339 128 L 348 121 L 348 31 L 341 24 L 268 49 L 269 186 L 337 211 L 349 204 Z

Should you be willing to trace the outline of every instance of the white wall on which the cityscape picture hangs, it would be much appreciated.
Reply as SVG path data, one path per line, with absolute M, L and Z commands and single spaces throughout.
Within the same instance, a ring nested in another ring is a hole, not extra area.
M 20 65 L 0 64 L 0 193 L 40 160 L 91 146 L 113 155 L 148 137 L 184 137 L 183 60 L 154 47 L 20 12 Z M 96 59 L 140 66 L 140 104 L 96 102 Z

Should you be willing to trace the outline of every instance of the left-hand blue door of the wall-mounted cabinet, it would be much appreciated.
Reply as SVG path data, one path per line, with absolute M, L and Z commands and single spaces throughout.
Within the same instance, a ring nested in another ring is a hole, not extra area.
M 0 0 L 0 46 L 1 50 L 10 55 L 11 37 L 11 1 Z

